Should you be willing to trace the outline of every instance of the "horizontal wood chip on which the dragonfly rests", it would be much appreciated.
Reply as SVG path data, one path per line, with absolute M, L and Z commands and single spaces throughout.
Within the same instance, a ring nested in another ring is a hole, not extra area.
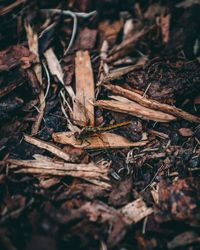
M 146 138 L 139 142 L 131 142 L 127 138 L 113 133 L 101 133 L 87 138 L 83 142 L 76 140 L 71 132 L 53 133 L 53 140 L 61 144 L 70 144 L 74 147 L 95 149 L 95 148 L 127 148 L 139 147 L 147 144 Z

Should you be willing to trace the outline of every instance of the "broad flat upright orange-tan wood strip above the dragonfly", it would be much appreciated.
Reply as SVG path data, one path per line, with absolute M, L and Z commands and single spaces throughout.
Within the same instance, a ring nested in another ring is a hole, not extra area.
M 94 77 L 88 51 L 78 51 L 75 57 L 76 99 L 73 119 L 78 125 L 89 121 L 94 126 Z

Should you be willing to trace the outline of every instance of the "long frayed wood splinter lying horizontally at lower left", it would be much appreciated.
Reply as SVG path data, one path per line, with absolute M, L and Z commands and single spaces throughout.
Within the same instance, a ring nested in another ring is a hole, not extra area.
M 108 183 L 108 165 L 94 162 L 89 164 L 73 164 L 54 161 L 52 158 L 35 155 L 35 160 L 8 159 L 9 169 L 15 173 L 39 174 L 45 176 L 73 176 L 98 183 L 105 188 L 110 188 Z

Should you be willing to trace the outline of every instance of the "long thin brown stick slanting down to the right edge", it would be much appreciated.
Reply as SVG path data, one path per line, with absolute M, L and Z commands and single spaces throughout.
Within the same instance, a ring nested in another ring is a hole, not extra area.
M 104 84 L 104 86 L 107 89 L 112 90 L 113 93 L 118 94 L 120 96 L 124 96 L 124 97 L 128 98 L 129 100 L 135 101 L 144 107 L 151 108 L 154 110 L 159 110 L 162 112 L 166 112 L 168 114 L 171 114 L 171 115 L 177 116 L 177 117 L 181 117 L 181 118 L 188 120 L 188 121 L 191 121 L 191 122 L 200 123 L 200 117 L 197 117 L 195 115 L 191 115 L 191 114 L 183 111 L 182 109 L 176 108 L 175 106 L 170 106 L 168 104 L 160 103 L 158 101 L 143 97 L 134 91 L 124 89 L 118 85 Z

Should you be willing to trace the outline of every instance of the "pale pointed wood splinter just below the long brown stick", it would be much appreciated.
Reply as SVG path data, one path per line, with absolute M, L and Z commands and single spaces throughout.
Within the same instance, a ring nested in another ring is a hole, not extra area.
M 146 108 L 126 98 L 123 98 L 123 101 L 99 100 L 96 101 L 94 105 L 104 109 L 136 116 L 144 120 L 152 120 L 156 122 L 169 122 L 176 119 L 176 117 L 170 114 Z

